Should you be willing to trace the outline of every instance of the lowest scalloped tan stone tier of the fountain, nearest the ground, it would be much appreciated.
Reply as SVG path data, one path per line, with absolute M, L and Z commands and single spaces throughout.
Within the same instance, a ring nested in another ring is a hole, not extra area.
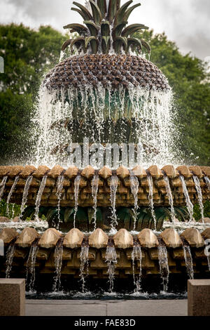
M 42 235 L 38 235 L 34 228 L 25 228 L 18 234 L 12 228 L 5 228 L 0 233 L 0 239 L 6 246 L 14 245 L 12 270 L 13 274 L 26 273 L 27 260 L 31 246 L 38 246 L 36 254 L 35 269 L 37 273 L 55 273 L 55 247 L 62 246 L 62 275 L 73 275 L 79 277 L 81 246 L 89 246 L 87 260 L 89 260 L 89 275 L 95 278 L 106 278 L 107 260 L 106 248 L 113 246 L 116 249 L 116 277 L 128 277 L 139 274 L 140 259 L 133 257 L 134 246 L 141 246 L 141 269 L 142 276 L 158 275 L 160 272 L 158 249 L 160 246 L 166 247 L 169 272 L 174 274 L 186 273 L 186 262 L 192 256 L 193 271 L 210 275 L 209 260 L 205 253 L 205 240 L 210 239 L 210 228 L 200 234 L 195 228 L 188 228 L 181 235 L 174 229 L 167 229 L 160 235 L 155 235 L 152 230 L 144 229 L 139 235 L 132 236 L 125 229 L 119 230 L 116 235 L 108 237 L 101 229 L 92 232 L 88 237 L 74 228 L 66 235 L 62 235 L 55 229 L 48 229 Z M 185 256 L 183 246 L 188 248 L 191 256 Z M 187 257 L 187 260 L 186 260 Z M 0 258 L 0 273 L 6 272 L 7 256 Z M 133 268 L 134 260 L 134 268 Z

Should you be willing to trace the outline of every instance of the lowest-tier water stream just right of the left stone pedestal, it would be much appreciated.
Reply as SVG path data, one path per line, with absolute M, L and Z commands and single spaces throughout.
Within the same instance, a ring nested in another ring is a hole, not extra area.
M 34 284 L 35 284 L 35 277 L 36 277 L 36 271 L 35 271 L 35 263 L 36 263 L 36 256 L 38 253 L 38 246 L 32 245 L 29 251 L 29 257 L 27 259 L 27 276 L 26 276 L 26 282 L 28 282 L 29 274 L 31 275 L 31 279 L 29 282 L 29 291 L 34 292 Z

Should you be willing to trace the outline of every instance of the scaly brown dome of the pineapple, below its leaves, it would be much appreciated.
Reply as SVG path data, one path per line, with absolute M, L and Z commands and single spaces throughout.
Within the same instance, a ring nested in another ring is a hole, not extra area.
M 67 58 L 46 76 L 49 90 L 69 88 L 146 88 L 167 91 L 166 77 L 152 62 L 135 55 L 78 55 Z

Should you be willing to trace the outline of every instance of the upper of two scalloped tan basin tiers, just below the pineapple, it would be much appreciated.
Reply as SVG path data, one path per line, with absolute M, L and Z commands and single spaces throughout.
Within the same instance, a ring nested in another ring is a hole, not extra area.
M 27 193 L 27 205 L 34 206 L 38 192 L 44 176 L 47 176 L 43 192 L 41 194 L 40 206 L 57 206 L 58 194 L 57 183 L 62 176 L 62 190 L 60 192 L 60 206 L 75 206 L 75 178 L 80 176 L 78 190 L 78 206 L 93 206 L 92 185 L 94 176 L 98 175 L 97 206 L 111 206 L 111 178 L 116 177 L 116 206 L 134 206 L 134 195 L 132 194 L 132 176 L 137 177 L 139 181 L 137 199 L 139 206 L 149 206 L 148 194 L 150 192 L 148 176 L 153 179 L 153 204 L 154 206 L 169 206 L 169 197 L 167 194 L 167 183 L 164 175 L 169 178 L 170 189 L 174 206 L 186 206 L 186 196 L 183 190 L 183 183 L 180 175 L 183 176 L 190 201 L 193 204 L 198 202 L 198 194 L 193 180 L 193 175 L 197 176 L 202 190 L 203 201 L 210 199 L 210 167 L 200 166 L 164 166 L 161 170 L 158 166 L 151 166 L 147 170 L 141 166 L 136 166 L 133 170 L 128 170 L 124 166 L 116 170 L 111 170 L 104 166 L 102 169 L 95 170 L 87 166 L 83 170 L 71 166 L 69 169 L 63 169 L 61 166 L 55 166 L 49 169 L 47 166 L 0 166 L 0 194 L 1 184 L 6 180 L 2 191 L 3 199 L 8 202 L 22 204 L 22 197 L 25 190 L 27 178 L 32 176 Z M 7 178 L 6 178 L 7 177 Z M 15 184 L 13 193 L 10 190 Z M 208 182 L 209 185 L 208 185 Z

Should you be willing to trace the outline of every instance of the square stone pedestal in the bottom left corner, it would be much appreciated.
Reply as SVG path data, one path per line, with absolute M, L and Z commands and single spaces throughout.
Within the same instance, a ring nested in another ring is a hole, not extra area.
M 25 279 L 0 279 L 0 316 L 25 316 Z

